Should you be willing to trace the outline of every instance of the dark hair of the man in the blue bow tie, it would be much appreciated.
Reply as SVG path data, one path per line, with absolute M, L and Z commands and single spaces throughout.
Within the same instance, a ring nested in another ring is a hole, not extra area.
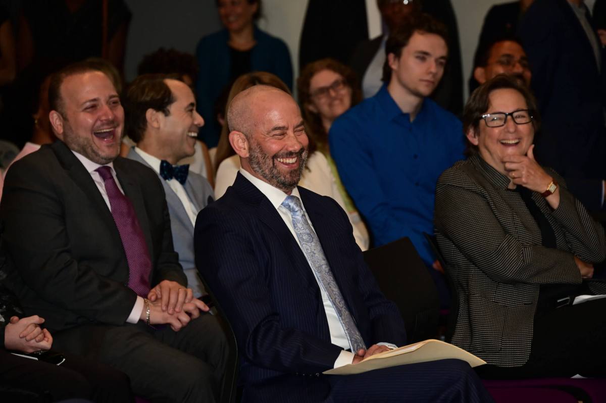
M 138 143 L 143 139 L 147 128 L 148 109 L 170 115 L 170 107 L 175 102 L 173 92 L 166 84 L 167 79 L 181 81 L 178 75 L 144 74 L 138 76 L 128 85 L 124 92 L 124 132 Z

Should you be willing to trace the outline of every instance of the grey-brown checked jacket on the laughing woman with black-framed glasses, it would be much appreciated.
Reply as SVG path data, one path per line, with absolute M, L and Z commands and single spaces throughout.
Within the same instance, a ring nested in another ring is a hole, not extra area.
M 560 184 L 560 204 L 551 210 L 532 198 L 553 227 L 558 249 L 541 245 L 541 231 L 509 179 L 479 156 L 448 168 L 436 188 L 438 244 L 459 295 L 452 342 L 489 364 L 523 365 L 530 355 L 533 316 L 541 284 L 578 284 L 576 255 L 587 262 L 605 258 L 601 225 Z M 605 293 L 606 285 L 592 282 Z

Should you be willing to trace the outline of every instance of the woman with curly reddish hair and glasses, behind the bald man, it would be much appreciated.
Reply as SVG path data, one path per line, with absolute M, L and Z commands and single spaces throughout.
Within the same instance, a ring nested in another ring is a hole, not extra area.
M 310 153 L 318 150 L 330 164 L 350 221 L 358 228 L 364 237 L 364 244 L 368 247 L 368 230 L 339 179 L 335 161 L 331 158 L 328 148 L 328 130 L 335 119 L 362 101 L 356 74 L 335 59 L 320 59 L 305 65 L 301 70 L 297 79 L 297 90 L 303 118 L 307 124 L 307 135 L 312 140 Z

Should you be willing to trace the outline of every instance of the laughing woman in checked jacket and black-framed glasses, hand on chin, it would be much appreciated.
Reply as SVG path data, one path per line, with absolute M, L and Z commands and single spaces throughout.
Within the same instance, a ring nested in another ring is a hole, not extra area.
M 459 302 L 453 344 L 488 362 L 485 378 L 606 375 L 606 299 L 572 305 L 606 294 L 592 281 L 604 229 L 535 161 L 536 101 L 496 76 L 471 95 L 463 127 L 469 156 L 436 188 L 436 237 Z

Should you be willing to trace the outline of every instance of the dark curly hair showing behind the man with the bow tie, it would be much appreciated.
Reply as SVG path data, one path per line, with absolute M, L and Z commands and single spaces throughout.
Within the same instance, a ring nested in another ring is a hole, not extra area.
M 193 82 L 198 78 L 198 62 L 189 53 L 179 52 L 175 48 L 159 48 L 156 52 L 143 57 L 138 75 L 144 74 L 178 74 L 183 77 L 190 76 Z

